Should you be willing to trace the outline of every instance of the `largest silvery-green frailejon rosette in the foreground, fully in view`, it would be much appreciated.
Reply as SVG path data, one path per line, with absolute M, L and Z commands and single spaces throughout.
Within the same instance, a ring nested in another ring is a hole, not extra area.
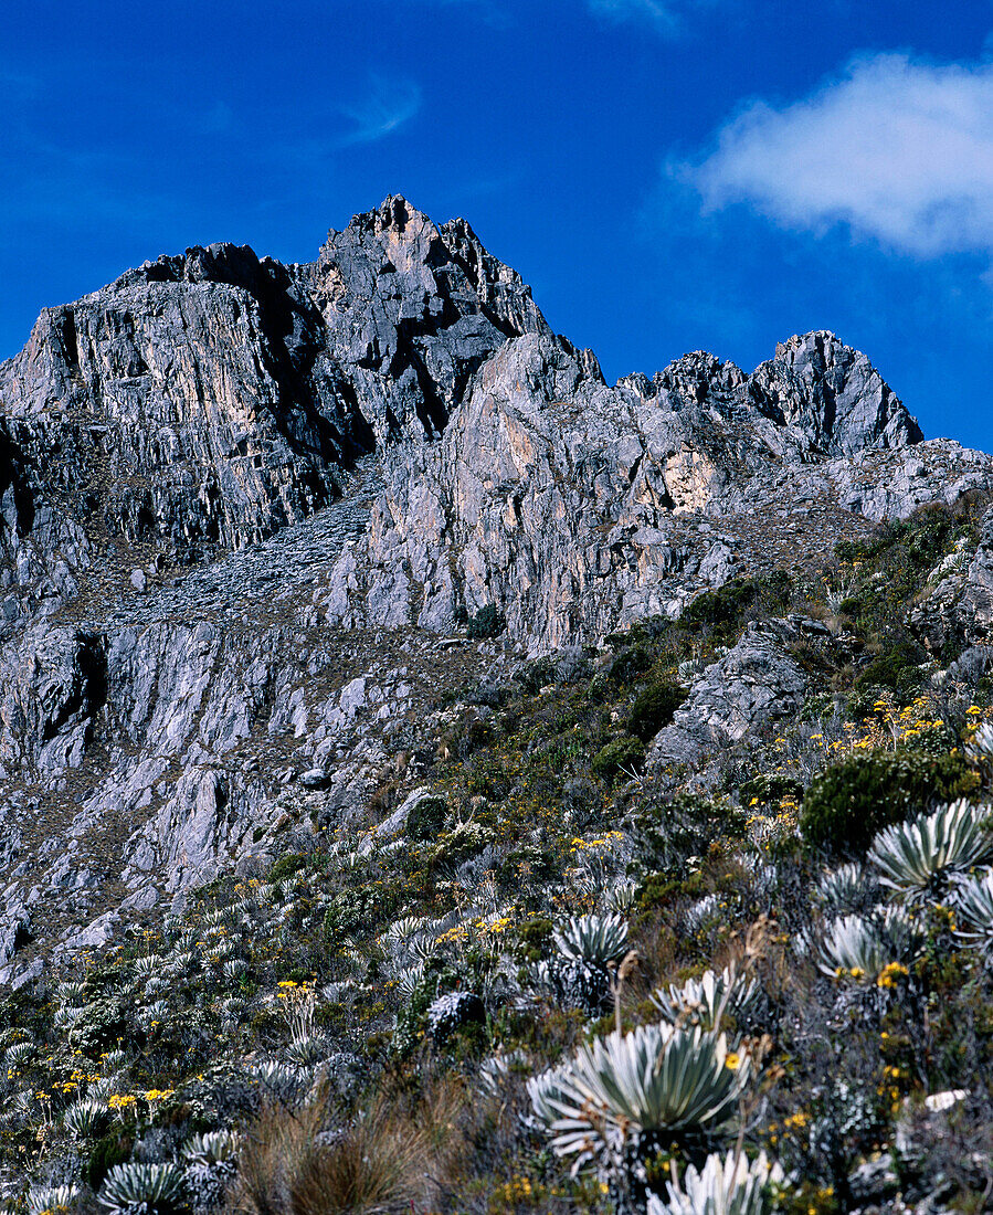
M 527 1083 L 537 1118 L 572 1171 L 588 1164 L 616 1180 L 624 1162 L 656 1149 L 664 1135 L 707 1138 L 727 1130 L 749 1061 L 723 1035 L 641 1025 L 581 1046 Z

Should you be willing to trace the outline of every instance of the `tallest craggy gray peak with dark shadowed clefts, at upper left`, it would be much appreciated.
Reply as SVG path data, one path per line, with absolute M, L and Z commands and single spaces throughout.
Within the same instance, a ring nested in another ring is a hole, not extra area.
M 159 258 L 43 312 L 0 366 L 10 510 L 24 531 L 35 498 L 60 501 L 184 553 L 256 542 L 377 442 L 439 434 L 525 332 L 548 328 L 520 277 L 401 198 L 306 266 L 230 244 Z

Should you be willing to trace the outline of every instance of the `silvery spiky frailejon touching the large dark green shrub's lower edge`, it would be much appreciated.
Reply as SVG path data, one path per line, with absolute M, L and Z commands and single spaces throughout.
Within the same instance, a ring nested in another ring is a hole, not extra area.
M 940 897 L 953 874 L 966 872 L 993 857 L 989 807 L 958 801 L 875 837 L 870 863 L 898 898 L 919 902 Z

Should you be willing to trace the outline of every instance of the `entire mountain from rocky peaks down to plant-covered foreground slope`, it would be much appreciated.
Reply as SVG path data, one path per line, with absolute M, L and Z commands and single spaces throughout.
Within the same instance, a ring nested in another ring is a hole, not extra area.
M 989 457 L 402 199 L 0 401 L 12 1209 L 984 1209 Z

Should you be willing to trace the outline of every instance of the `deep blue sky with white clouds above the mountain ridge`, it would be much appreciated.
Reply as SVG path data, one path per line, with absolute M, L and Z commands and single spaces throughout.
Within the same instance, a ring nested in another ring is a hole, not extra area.
M 34 0 L 0 46 L 0 357 L 211 241 L 464 215 L 614 379 L 834 329 L 993 448 L 989 0 Z

